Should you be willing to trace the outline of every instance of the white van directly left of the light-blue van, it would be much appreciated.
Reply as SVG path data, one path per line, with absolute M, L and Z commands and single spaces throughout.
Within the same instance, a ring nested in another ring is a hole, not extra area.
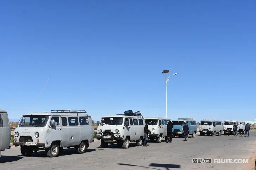
M 145 118 L 145 122 L 148 123 L 148 129 L 150 130 L 149 139 L 160 143 L 162 137 L 167 140 L 167 124 L 171 121 L 169 118 L 162 117 L 148 117 Z

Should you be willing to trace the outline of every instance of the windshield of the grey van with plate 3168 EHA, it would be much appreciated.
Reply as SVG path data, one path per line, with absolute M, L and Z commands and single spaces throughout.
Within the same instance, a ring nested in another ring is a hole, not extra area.
M 19 126 L 44 127 L 47 124 L 49 116 L 23 116 Z

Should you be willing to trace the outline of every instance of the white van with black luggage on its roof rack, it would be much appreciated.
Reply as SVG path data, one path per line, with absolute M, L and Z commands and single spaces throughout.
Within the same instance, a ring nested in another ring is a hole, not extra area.
M 104 116 L 98 121 L 96 138 L 101 140 L 101 147 L 117 143 L 119 147 L 129 148 L 131 141 L 141 146 L 144 138 L 145 120 L 139 111 L 125 111 L 124 114 Z

